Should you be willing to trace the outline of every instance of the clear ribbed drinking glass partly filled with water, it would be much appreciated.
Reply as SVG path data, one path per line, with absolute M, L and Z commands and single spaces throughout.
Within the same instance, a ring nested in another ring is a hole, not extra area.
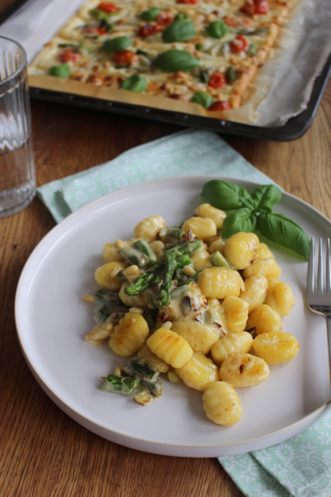
M 35 192 L 26 53 L 0 37 L 0 218 L 24 209 Z

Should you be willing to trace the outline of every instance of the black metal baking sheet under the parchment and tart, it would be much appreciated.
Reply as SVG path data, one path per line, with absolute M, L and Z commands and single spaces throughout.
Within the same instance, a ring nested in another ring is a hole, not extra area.
M 323 93 L 331 76 L 331 55 L 324 66 L 322 73 L 316 78 L 307 108 L 286 124 L 277 127 L 255 126 L 253 124 L 241 124 L 233 121 L 225 121 L 209 117 L 201 117 L 183 112 L 173 112 L 143 105 L 112 102 L 99 98 L 85 97 L 81 95 L 65 93 L 60 91 L 44 90 L 30 87 L 32 98 L 59 102 L 79 107 L 103 110 L 118 114 L 125 114 L 145 119 L 154 119 L 172 124 L 179 124 L 193 128 L 207 129 L 218 133 L 227 133 L 248 138 L 259 138 L 275 142 L 287 142 L 300 138 L 311 125 Z

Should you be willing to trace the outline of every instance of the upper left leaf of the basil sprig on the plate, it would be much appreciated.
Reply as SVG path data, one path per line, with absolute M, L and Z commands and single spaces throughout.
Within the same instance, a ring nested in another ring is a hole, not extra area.
M 205 183 L 202 196 L 209 204 L 225 211 L 241 207 L 254 208 L 252 197 L 245 188 L 222 179 L 211 179 Z

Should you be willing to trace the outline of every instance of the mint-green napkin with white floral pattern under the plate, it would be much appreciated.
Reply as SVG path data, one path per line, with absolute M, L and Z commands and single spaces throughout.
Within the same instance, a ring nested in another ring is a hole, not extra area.
M 197 174 L 271 182 L 216 134 L 184 131 L 45 184 L 38 188 L 37 195 L 60 222 L 79 207 L 119 188 L 150 179 Z M 331 412 L 290 440 L 218 460 L 248 497 L 330 497 Z

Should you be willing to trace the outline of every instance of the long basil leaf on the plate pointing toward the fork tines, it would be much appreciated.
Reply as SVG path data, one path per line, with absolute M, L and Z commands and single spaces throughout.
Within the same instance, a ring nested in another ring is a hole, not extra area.
M 258 228 L 268 240 L 291 248 L 308 260 L 310 239 L 303 229 L 285 214 L 277 214 L 276 212 L 260 214 Z

